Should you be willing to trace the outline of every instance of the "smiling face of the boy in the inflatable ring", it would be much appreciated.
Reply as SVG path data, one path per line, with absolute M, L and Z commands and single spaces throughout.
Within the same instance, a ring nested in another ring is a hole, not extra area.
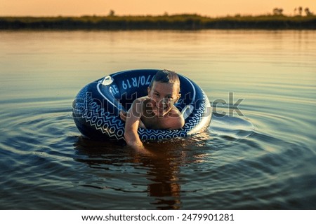
M 155 81 L 151 88 L 148 87 L 148 97 L 150 97 L 152 111 L 156 116 L 163 117 L 171 111 L 173 104 L 180 97 L 178 85 Z

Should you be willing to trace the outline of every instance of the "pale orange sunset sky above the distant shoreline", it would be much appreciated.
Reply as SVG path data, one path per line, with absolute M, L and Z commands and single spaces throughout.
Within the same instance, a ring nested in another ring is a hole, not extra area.
M 283 8 L 293 15 L 294 8 L 310 8 L 316 14 L 315 0 L 0 0 L 0 16 L 57 15 L 162 15 L 197 13 L 207 16 L 259 15 Z

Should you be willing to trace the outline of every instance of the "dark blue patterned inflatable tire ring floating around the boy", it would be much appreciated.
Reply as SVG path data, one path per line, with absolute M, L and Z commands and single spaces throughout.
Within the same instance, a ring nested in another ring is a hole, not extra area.
M 134 99 L 147 95 L 157 69 L 120 71 L 83 87 L 72 104 L 74 123 L 91 139 L 124 139 L 124 121 L 119 111 L 129 110 Z M 204 132 L 211 122 L 211 105 L 204 91 L 192 80 L 179 75 L 181 97 L 175 106 L 185 125 L 179 130 L 138 128 L 142 140 L 183 138 Z

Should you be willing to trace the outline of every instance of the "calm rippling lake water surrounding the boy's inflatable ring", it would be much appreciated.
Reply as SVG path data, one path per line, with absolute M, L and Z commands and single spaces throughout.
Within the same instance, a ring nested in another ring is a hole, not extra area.
M 316 209 L 315 62 L 316 31 L 0 31 L 0 209 Z M 202 87 L 206 132 L 81 137 L 81 87 L 151 68 Z

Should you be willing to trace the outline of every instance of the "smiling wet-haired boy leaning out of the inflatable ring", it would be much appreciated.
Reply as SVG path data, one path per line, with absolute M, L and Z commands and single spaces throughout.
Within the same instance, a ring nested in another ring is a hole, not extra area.
M 185 120 L 174 104 L 180 98 L 180 80 L 174 71 L 158 71 L 150 86 L 148 96 L 134 100 L 125 120 L 126 144 L 140 153 L 148 153 L 138 136 L 138 127 L 156 130 L 175 130 L 183 127 Z

